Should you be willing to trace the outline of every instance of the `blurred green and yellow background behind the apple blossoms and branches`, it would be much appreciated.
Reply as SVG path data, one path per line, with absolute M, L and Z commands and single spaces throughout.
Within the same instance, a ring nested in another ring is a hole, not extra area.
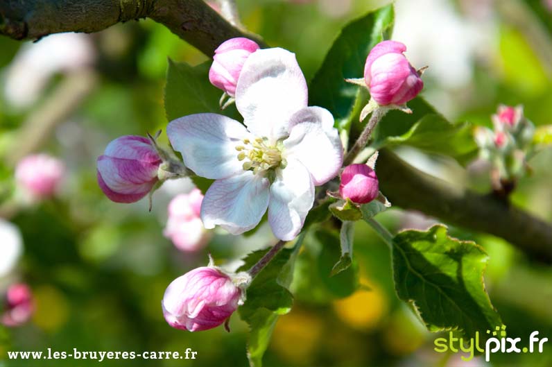
M 307 80 L 340 28 L 382 5 L 369 0 L 238 0 L 241 21 L 272 46 L 297 54 Z M 452 120 L 491 126 L 499 103 L 524 105 L 536 126 L 552 125 L 552 2 L 549 0 L 397 0 L 393 39 L 408 46 L 415 67 L 429 65 L 422 94 Z M 167 59 L 196 65 L 207 60 L 151 20 L 118 24 L 101 33 L 62 34 L 40 42 L 0 37 L 0 254 L 13 241 L 13 260 L 0 259 L 0 293 L 14 282 L 31 287 L 35 311 L 28 323 L 0 327 L 0 366 L 52 366 L 7 361 L 7 350 L 179 350 L 189 361 L 127 361 L 128 366 L 245 366 L 247 325 L 232 317 L 222 327 L 189 333 L 169 327 L 160 302 L 167 285 L 191 268 L 219 264 L 271 244 L 268 228 L 250 237 L 215 231 L 206 248 L 182 253 L 163 235 L 167 204 L 187 192 L 186 180 L 147 200 L 112 203 L 96 183 L 96 157 L 121 135 L 166 127 L 163 88 Z M 160 138 L 166 144 L 166 135 Z M 58 157 L 66 167 L 53 198 L 32 200 L 13 180 L 13 167 L 29 153 Z M 477 162 L 464 170 L 442 157 L 403 148 L 408 162 L 458 185 L 489 190 Z M 552 220 L 552 150 L 530 161 L 533 174 L 512 196 L 545 221 Z M 379 216 L 390 229 L 426 228 L 433 219 L 390 210 Z M 6 224 L 11 222 L 16 227 Z M 0 228 L 1 229 L 1 228 Z M 8 233 L 9 232 L 9 233 Z M 505 241 L 452 228 L 490 255 L 485 282 L 512 334 L 539 330 L 552 336 L 552 271 L 528 262 Z M 9 238 L 8 238 L 9 237 Z M 11 242 L 10 242 L 11 243 Z M 11 246 L 11 245 L 10 245 Z M 295 306 L 282 316 L 266 353 L 266 366 L 551 366 L 544 354 L 496 355 L 492 364 L 433 351 L 439 334 L 426 332 L 393 289 L 388 248 L 367 225 L 356 230 L 354 256 L 361 284 L 352 295 L 328 280 L 329 268 L 300 257 L 292 285 Z M 17 255 L 17 253 L 20 253 Z M 312 255 L 312 254 L 311 254 Z M 0 255 L 4 256 L 4 255 Z M 6 255 L 7 256 L 7 255 Z M 318 255 L 312 255 L 318 256 Z M 322 256 L 322 255 L 320 255 Z M 323 262 L 322 262 L 323 263 Z M 235 268 L 235 265 L 234 265 Z M 351 285 L 352 287 L 352 285 Z M 345 296 L 345 298 L 343 298 Z M 547 347 L 547 348 L 546 348 Z M 96 366 L 55 361 L 55 366 Z M 103 361 L 119 366 L 121 361 Z

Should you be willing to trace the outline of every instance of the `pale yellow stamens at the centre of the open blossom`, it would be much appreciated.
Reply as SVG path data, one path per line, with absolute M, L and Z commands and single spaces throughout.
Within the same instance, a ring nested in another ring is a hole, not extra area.
M 243 139 L 243 145 L 236 146 L 236 151 L 239 151 L 238 160 L 243 161 L 243 171 L 257 174 L 286 165 L 282 158 L 282 144 L 270 145 L 266 138 Z

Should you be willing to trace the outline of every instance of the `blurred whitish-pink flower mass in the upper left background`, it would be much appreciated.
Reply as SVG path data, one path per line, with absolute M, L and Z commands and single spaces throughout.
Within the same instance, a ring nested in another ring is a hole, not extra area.
M 21 46 L 6 73 L 6 100 L 15 108 L 26 108 L 37 100 L 51 76 L 92 64 L 96 55 L 89 37 L 59 33 Z

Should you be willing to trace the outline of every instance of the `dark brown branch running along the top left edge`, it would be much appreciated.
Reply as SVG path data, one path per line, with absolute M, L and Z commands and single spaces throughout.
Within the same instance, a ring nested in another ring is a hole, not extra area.
M 164 24 L 207 56 L 225 40 L 244 35 L 202 0 L 3 0 L 0 34 L 38 40 L 52 33 L 98 32 L 144 17 Z

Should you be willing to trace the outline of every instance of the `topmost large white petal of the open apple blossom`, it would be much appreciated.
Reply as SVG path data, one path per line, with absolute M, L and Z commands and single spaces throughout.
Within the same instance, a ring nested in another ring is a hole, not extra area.
M 236 86 L 236 107 L 255 136 L 285 137 L 291 115 L 307 102 L 307 82 L 294 53 L 264 49 L 245 61 Z

